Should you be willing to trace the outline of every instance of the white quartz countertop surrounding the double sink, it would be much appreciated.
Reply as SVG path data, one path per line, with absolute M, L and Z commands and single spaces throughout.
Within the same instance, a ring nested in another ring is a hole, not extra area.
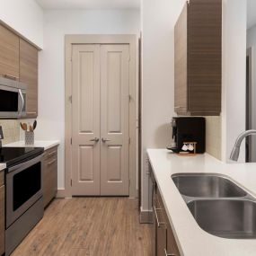
M 223 163 L 209 154 L 186 157 L 166 149 L 147 149 L 147 154 L 181 255 L 256 255 L 256 239 L 225 239 L 202 230 L 171 178 L 181 172 L 220 173 L 256 197 L 256 163 Z

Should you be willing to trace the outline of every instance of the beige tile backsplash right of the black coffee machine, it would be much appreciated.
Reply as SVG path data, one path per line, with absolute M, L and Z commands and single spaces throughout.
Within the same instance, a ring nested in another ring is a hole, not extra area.
M 206 151 L 221 160 L 221 117 L 206 117 Z

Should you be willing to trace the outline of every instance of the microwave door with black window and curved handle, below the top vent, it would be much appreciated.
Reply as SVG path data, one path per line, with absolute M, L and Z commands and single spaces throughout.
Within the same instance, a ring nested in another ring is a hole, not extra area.
M 0 118 L 19 118 L 26 114 L 26 90 L 0 84 Z

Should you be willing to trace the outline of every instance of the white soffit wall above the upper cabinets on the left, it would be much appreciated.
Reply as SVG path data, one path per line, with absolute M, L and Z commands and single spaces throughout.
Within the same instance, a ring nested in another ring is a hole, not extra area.
M 0 20 L 43 48 L 43 10 L 35 0 L 0 0 Z

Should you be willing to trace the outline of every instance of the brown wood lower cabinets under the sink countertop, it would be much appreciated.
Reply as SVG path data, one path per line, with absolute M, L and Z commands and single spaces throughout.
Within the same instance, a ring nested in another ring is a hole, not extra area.
M 153 180 L 153 211 L 154 211 L 154 239 L 155 256 L 180 256 L 180 252 L 175 241 L 172 226 L 166 214 L 163 199 L 154 180 L 154 174 L 151 172 Z

